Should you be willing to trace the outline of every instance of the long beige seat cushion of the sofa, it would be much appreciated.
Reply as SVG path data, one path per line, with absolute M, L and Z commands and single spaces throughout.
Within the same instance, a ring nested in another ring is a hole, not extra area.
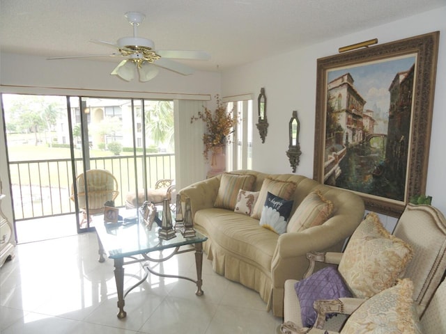
M 254 218 L 226 209 L 201 209 L 194 218 L 197 230 L 210 236 L 213 243 L 233 257 L 258 264 L 270 276 L 279 234 L 262 228 Z

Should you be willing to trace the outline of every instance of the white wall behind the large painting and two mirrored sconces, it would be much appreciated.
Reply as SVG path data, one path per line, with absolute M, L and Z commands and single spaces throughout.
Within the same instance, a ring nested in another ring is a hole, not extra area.
M 316 61 L 338 53 L 338 48 L 363 40 L 378 38 L 392 42 L 432 31 L 440 31 L 436 76 L 436 95 L 433 107 L 431 149 L 426 193 L 433 196 L 432 204 L 446 213 L 443 193 L 446 154 L 446 6 L 391 24 L 352 33 L 334 40 L 311 45 L 256 63 L 250 63 L 222 74 L 222 95 L 260 93 L 265 87 L 268 98 L 268 136 L 261 143 L 254 132 L 253 168 L 267 173 L 291 173 L 285 151 L 288 149 L 288 122 L 291 112 L 298 110 L 300 147 L 302 155 L 296 173 L 313 177 L 314 113 L 316 108 Z M 298 33 L 298 32 L 296 32 Z M 255 120 L 256 121 L 256 120 Z

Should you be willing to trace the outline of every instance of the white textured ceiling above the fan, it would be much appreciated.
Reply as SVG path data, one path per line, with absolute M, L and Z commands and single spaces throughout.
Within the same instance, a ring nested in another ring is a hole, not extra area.
M 218 71 L 446 5 L 445 0 L 0 0 L 0 51 L 109 54 L 91 39 L 132 35 L 124 14 L 146 15 L 139 37 L 155 49 L 204 50 Z M 360 41 L 358 41 L 360 42 Z M 98 58 L 118 62 L 113 57 Z M 64 60 L 70 61 L 70 60 Z

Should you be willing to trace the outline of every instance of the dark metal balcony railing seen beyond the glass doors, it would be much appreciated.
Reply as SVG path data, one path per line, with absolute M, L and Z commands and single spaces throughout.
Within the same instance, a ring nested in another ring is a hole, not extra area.
M 143 159 L 143 155 L 89 159 L 90 169 L 106 169 L 116 177 L 119 191 L 116 207 L 125 205 L 127 193 L 135 191 L 135 180 L 140 190 L 144 189 L 144 177 L 148 188 L 153 188 L 157 180 L 175 178 L 175 154 L 147 155 L 145 175 Z M 9 163 L 16 221 L 75 213 L 75 203 L 70 200 L 73 180 L 71 164 L 71 159 Z M 82 159 L 75 159 L 75 164 L 76 170 L 83 170 Z

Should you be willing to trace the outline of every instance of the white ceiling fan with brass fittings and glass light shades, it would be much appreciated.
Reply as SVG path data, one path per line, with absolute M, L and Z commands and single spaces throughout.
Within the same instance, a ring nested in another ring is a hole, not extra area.
M 138 12 L 125 13 L 128 22 L 133 26 L 133 36 L 119 38 L 116 43 L 105 42 L 102 40 L 91 40 L 101 45 L 114 47 L 117 52 L 107 55 L 86 55 L 86 56 L 63 56 L 51 57 L 54 59 L 67 58 L 85 58 L 97 56 L 114 56 L 124 57 L 125 59 L 119 63 L 112 71 L 112 75 L 117 75 L 121 79 L 131 81 L 134 78 L 136 70 L 139 72 L 139 81 L 146 82 L 158 74 L 158 67 L 163 67 L 167 70 L 177 72 L 183 75 L 189 75 L 194 72 L 192 67 L 172 61 L 174 59 L 190 59 L 207 61 L 210 59 L 210 54 L 206 51 L 173 51 L 173 50 L 155 50 L 155 43 L 148 38 L 141 38 L 137 35 L 137 28 L 141 22 L 144 21 L 146 15 Z

